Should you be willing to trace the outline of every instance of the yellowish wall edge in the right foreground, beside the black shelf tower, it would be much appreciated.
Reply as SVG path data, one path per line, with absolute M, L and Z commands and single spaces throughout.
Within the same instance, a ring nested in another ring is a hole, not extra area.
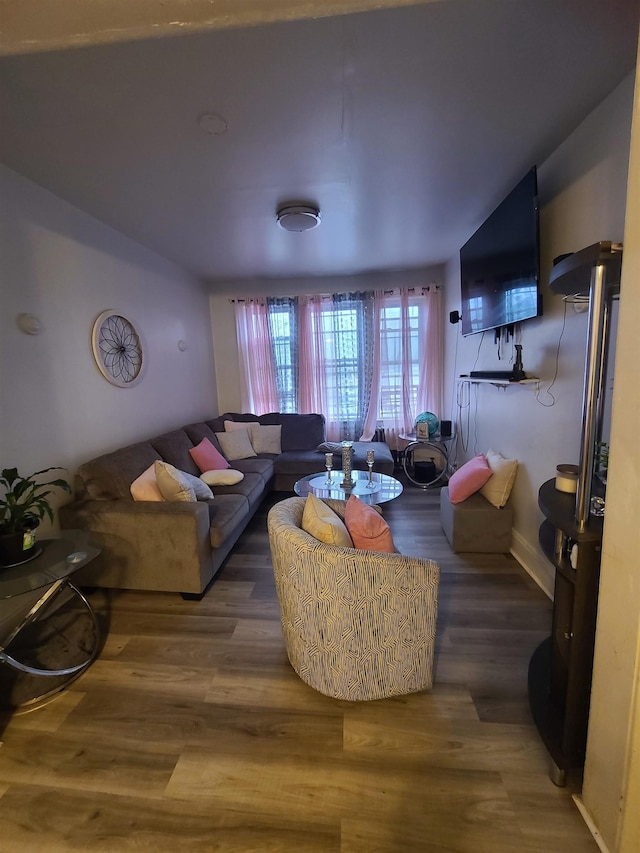
M 600 598 L 582 798 L 612 853 L 640 850 L 640 88 L 636 85 Z

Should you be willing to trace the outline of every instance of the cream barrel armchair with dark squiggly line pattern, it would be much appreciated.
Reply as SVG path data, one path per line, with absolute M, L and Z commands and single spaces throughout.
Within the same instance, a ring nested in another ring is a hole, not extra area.
M 291 666 L 336 699 L 381 699 L 430 688 L 438 565 L 325 545 L 302 530 L 304 503 L 287 498 L 267 519 Z M 326 503 L 344 519 L 344 501 Z

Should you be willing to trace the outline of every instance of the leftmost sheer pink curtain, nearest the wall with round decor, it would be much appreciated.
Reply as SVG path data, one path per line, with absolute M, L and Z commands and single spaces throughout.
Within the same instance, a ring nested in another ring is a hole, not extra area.
M 276 412 L 278 389 L 266 301 L 238 300 L 235 313 L 242 411 L 256 415 Z

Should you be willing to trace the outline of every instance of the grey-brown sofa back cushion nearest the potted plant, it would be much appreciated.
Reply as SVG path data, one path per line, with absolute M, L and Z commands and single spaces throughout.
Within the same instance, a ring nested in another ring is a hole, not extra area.
M 141 441 L 85 462 L 78 468 L 78 477 L 93 500 L 131 501 L 131 484 L 157 459 L 160 455 L 151 442 Z

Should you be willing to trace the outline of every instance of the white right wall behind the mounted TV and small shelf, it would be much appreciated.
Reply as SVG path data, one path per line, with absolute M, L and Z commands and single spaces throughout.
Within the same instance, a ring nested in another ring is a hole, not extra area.
M 488 447 L 519 460 L 513 553 L 549 594 L 553 569 L 538 546 L 542 516 L 537 494 L 540 485 L 554 476 L 558 463 L 578 462 L 587 315 L 576 314 L 568 305 L 564 322 L 565 303 L 547 282 L 554 257 L 599 240 L 622 241 L 633 83 L 631 74 L 538 166 L 544 316 L 522 324 L 520 342 L 526 373 L 541 379 L 540 394 L 523 386 L 466 385 L 465 408 L 459 409 L 454 377 L 473 369 L 508 370 L 512 352 L 509 348 L 499 361 L 493 335 L 487 333 L 484 340 L 480 334 L 463 338 L 459 325 L 445 324 L 445 389 L 452 419 L 461 424 L 458 463 Z M 446 281 L 448 314 L 460 309 L 457 259 L 448 264 Z M 550 388 L 558 346 L 558 375 Z

